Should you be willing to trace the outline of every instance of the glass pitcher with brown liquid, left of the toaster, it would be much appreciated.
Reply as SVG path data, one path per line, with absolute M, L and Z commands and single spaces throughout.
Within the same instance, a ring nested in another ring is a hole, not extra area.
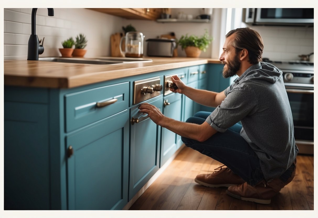
M 127 58 L 142 58 L 143 56 L 143 39 L 144 35 L 141 32 L 127 32 L 126 36 L 121 37 L 120 52 Z M 125 51 L 121 49 L 121 43 L 125 39 Z

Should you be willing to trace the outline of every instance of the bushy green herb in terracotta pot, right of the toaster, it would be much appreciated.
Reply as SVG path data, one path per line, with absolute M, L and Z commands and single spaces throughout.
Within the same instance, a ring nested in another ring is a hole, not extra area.
M 181 36 L 178 40 L 178 45 L 181 46 L 182 50 L 184 49 L 186 56 L 189 58 L 197 58 L 200 56 L 201 51 L 206 51 L 213 40 L 213 37 L 210 37 L 207 30 L 203 36 L 198 37 L 195 35 L 186 34 Z

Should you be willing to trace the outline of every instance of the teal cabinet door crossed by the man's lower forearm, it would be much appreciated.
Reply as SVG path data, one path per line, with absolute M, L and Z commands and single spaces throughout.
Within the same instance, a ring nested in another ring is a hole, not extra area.
M 181 120 L 181 94 L 171 93 L 164 97 L 163 114 L 175 120 Z M 160 167 L 176 152 L 181 146 L 181 136 L 169 129 L 161 130 L 161 149 L 160 149 Z

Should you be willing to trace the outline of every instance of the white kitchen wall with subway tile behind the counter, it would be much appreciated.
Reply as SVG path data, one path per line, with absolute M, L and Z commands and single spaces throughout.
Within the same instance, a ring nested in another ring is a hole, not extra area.
M 201 13 L 199 8 L 171 9 L 172 18 L 178 12 L 196 17 Z M 54 17 L 47 16 L 46 8 L 39 8 L 36 17 L 36 34 L 39 39 L 45 37 L 45 51 L 40 57 L 59 56 L 61 41 L 79 33 L 84 33 L 88 43 L 85 57 L 110 56 L 110 36 L 122 32 L 121 27 L 128 24 L 148 38 L 156 38 L 162 34 L 175 32 L 176 37 L 188 33 L 201 36 L 204 30 L 214 38 L 201 58 L 219 58 L 226 34 L 227 9 L 214 8 L 210 23 L 158 23 L 149 20 L 128 20 L 89 9 L 55 8 Z M 245 27 L 241 22 L 241 9 L 232 14 L 231 28 Z M 298 55 L 314 51 L 314 28 L 251 26 L 259 31 L 264 40 L 263 57 L 272 60 L 299 60 Z M 31 8 L 4 9 L 4 58 L 26 59 L 27 44 L 31 34 Z M 144 43 L 144 55 L 147 54 L 147 43 Z M 185 57 L 184 51 L 178 47 L 178 55 Z

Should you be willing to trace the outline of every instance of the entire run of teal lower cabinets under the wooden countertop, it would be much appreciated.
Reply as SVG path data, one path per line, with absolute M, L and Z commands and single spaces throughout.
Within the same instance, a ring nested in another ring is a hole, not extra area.
M 124 208 L 182 145 L 138 112 L 133 82 L 178 74 L 197 88 L 201 67 L 70 89 L 4 86 L 4 209 Z M 196 112 L 191 99 L 163 93 L 143 102 L 176 120 Z

